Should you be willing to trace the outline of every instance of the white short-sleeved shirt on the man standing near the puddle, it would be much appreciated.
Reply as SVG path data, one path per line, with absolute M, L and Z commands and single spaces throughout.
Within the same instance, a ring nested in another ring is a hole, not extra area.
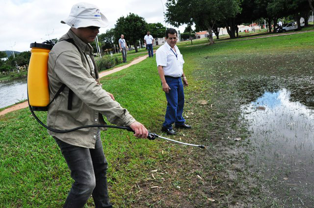
M 166 42 L 156 51 L 157 66 L 163 67 L 165 76 L 180 77 L 183 74 L 183 55 L 180 53 L 178 46 L 175 46 L 175 49 L 172 49 Z

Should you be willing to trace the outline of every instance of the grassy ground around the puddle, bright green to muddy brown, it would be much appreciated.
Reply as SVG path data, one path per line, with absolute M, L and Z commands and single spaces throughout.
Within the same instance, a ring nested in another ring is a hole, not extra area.
M 275 181 L 265 179 L 262 169 L 252 163 L 253 133 L 248 131 L 241 106 L 265 90 L 285 87 L 294 94 L 292 100 L 311 108 L 311 99 L 304 100 L 304 96 L 313 92 L 308 89 L 313 86 L 313 35 L 181 46 L 189 82 L 184 116 L 193 129 L 180 130 L 172 139 L 204 144 L 209 151 L 159 139 L 135 139 L 121 130 L 102 132 L 113 205 L 298 207 L 300 201 L 278 193 L 271 186 Z M 155 59 L 146 59 L 101 82 L 138 121 L 161 133 L 166 100 Z M 304 88 L 308 91 L 301 96 Z M 208 104 L 201 105 L 200 100 Z M 45 113 L 37 114 L 46 119 Z M 0 208 L 61 208 L 73 181 L 58 146 L 28 109 L 0 117 L 0 138 Z M 299 197 L 303 199 L 301 193 Z M 86 207 L 93 207 L 92 199 Z

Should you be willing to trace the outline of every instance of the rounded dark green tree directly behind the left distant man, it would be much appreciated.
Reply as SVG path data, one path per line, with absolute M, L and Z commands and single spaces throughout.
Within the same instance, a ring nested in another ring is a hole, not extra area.
M 115 24 L 115 42 L 124 34 L 127 42 L 134 46 L 135 52 L 138 52 L 138 41 L 145 36 L 147 23 L 144 18 L 130 13 L 127 17 L 120 17 Z

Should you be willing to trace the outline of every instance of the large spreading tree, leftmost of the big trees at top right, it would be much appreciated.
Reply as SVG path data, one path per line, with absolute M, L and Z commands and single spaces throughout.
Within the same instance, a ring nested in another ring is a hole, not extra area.
M 197 28 L 209 32 L 209 43 L 214 44 L 212 31 L 218 22 L 224 23 L 231 38 L 235 37 L 240 3 L 241 0 L 170 0 L 166 3 L 166 19 L 175 26 L 195 23 Z

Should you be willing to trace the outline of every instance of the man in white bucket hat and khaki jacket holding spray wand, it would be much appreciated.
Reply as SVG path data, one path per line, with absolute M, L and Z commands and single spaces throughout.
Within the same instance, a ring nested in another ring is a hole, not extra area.
M 92 43 L 100 27 L 108 24 L 97 6 L 85 2 L 73 5 L 70 16 L 61 21 L 71 26 L 49 53 L 49 89 L 53 96 L 62 89 L 48 109 L 47 123 L 54 129 L 110 123 L 130 126 L 138 138 L 147 129 L 137 122 L 112 94 L 102 89 L 93 57 Z M 83 208 L 92 195 L 96 208 L 112 208 L 107 192 L 103 145 L 99 128 L 49 134 L 56 140 L 75 181 L 64 208 Z

